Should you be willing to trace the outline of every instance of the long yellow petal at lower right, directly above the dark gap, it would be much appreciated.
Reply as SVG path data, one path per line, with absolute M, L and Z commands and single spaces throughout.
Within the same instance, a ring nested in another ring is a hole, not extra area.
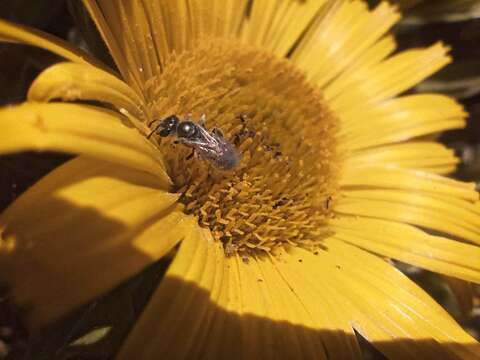
M 335 238 L 430 271 L 480 283 L 480 247 L 432 236 L 413 226 L 362 217 L 337 217 Z

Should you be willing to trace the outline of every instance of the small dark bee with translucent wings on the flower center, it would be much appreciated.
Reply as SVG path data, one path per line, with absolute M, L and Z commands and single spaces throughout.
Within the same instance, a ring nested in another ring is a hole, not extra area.
M 198 152 L 201 158 L 208 161 L 212 166 L 221 170 L 231 170 L 240 162 L 240 155 L 227 139 L 224 138 L 220 129 L 205 129 L 205 115 L 200 118 L 200 123 L 195 124 L 187 120 L 180 120 L 176 115 L 170 115 L 162 120 L 155 129 L 147 136 L 154 133 L 161 137 L 175 135 L 178 142 L 191 147 Z

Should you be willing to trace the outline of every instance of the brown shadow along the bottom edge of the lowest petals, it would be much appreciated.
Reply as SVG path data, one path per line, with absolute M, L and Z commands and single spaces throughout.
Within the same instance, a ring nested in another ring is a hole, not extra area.
M 118 359 L 156 359 L 160 354 L 165 359 L 361 358 L 357 338 L 344 331 L 235 313 L 215 304 L 212 293 L 178 278 L 165 277 L 162 286 L 175 289 L 176 296 L 147 305 L 150 318 L 140 317 Z M 230 299 L 232 303 L 235 299 Z M 480 345 L 473 341 L 454 344 L 399 338 L 372 345 L 388 359 L 476 359 L 480 354 Z M 362 353 L 368 351 L 361 347 Z

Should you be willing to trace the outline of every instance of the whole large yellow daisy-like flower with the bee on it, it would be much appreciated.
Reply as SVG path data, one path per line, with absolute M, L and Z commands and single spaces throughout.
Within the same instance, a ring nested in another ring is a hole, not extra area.
M 355 331 L 391 359 L 480 358 L 389 263 L 480 282 L 478 194 L 443 176 L 457 159 L 432 136 L 466 114 L 398 96 L 445 46 L 392 55 L 387 3 L 83 3 L 119 74 L 0 22 L 1 39 L 68 60 L 0 110 L 0 152 L 79 155 L 0 218 L 0 276 L 33 328 L 175 252 L 119 359 L 356 359 Z M 189 113 L 236 146 L 236 168 L 147 138 Z

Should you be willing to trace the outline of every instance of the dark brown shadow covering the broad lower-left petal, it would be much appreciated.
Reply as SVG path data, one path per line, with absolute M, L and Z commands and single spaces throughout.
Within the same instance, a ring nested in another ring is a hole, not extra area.
M 166 239 L 159 231 L 162 221 L 177 214 L 171 207 L 132 226 L 62 199 L 49 199 L 48 205 L 36 211 L 36 219 L 7 224 L 0 243 L 0 280 L 10 286 L 33 329 L 109 291 L 183 236 L 180 231 Z M 48 222 L 45 211 L 57 217 Z M 163 244 L 148 252 L 133 242 L 137 239 Z

